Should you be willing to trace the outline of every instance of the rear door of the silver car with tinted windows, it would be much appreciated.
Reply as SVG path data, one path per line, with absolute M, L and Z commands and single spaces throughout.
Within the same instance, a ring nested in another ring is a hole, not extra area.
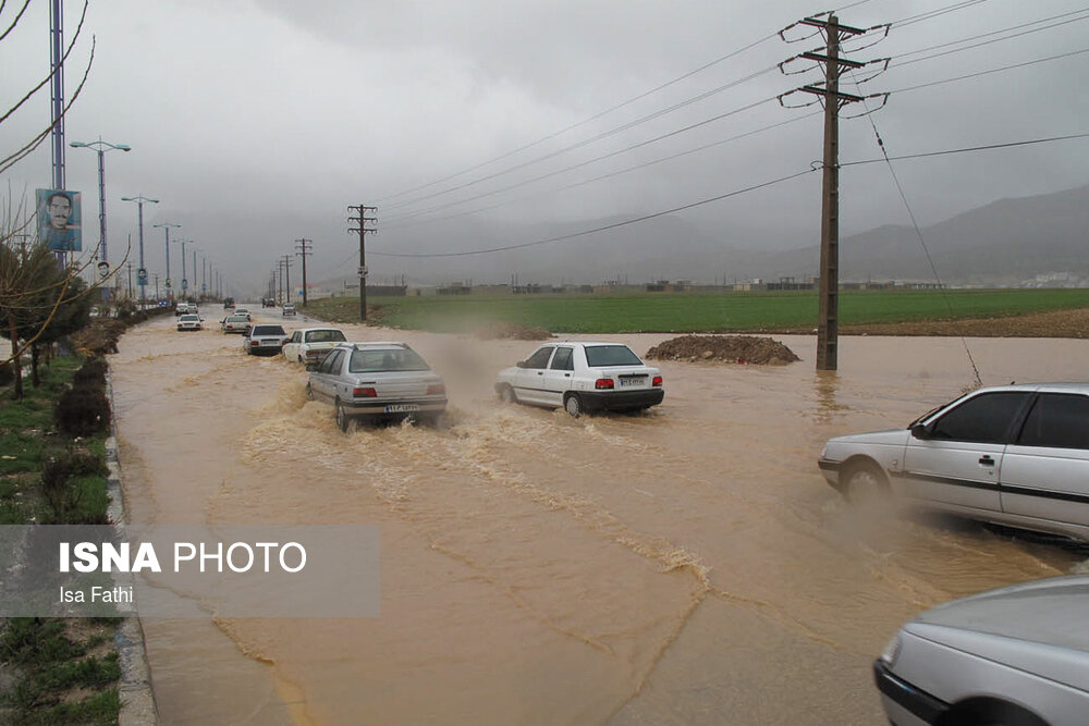
M 1006 447 L 1002 509 L 1089 526 L 1089 396 L 1041 393 Z

